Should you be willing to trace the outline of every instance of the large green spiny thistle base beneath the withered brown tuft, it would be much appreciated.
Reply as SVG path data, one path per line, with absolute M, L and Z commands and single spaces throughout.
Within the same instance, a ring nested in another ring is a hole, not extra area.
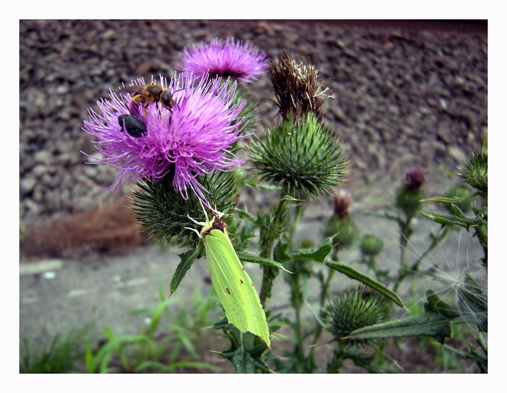
M 250 146 L 250 161 L 262 180 L 311 198 L 330 193 L 346 175 L 344 150 L 330 130 L 312 114 L 294 124 L 283 121 L 269 129 L 265 141 Z

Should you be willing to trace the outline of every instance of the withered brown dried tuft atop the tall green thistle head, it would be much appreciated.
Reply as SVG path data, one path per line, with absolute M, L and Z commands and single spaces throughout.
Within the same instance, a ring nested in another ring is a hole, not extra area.
M 271 82 L 276 100 L 284 120 L 295 123 L 306 114 L 313 112 L 322 119 L 323 103 L 332 94 L 323 86 L 318 68 L 293 54 L 281 50 L 278 61 L 270 60 Z

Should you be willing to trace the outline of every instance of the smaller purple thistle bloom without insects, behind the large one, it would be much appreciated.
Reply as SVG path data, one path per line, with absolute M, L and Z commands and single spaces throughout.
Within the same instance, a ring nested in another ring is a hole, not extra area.
M 252 43 L 234 39 L 229 42 L 215 38 L 211 43 L 201 42 L 199 49 L 195 44 L 187 46 L 180 56 L 184 63 L 181 71 L 200 77 L 209 73 L 224 78 L 233 77 L 243 83 L 257 80 L 259 75 L 268 71 L 268 58 Z

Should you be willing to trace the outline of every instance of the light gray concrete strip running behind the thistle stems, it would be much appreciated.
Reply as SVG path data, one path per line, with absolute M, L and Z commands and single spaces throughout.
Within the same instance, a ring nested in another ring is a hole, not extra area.
M 311 212 L 310 215 L 315 216 Z M 361 230 L 361 236 L 372 233 L 384 240 L 384 250 L 377 258 L 380 266 L 385 269 L 396 269 L 400 247 L 397 244 L 399 234 L 395 222 L 364 214 L 353 215 L 353 218 Z M 320 225 L 319 220 L 304 221 L 296 237 L 302 239 L 309 234 L 314 234 L 315 228 Z M 429 244 L 427 240 L 429 231 L 438 231 L 439 225 L 420 220 L 416 228 L 411 244 L 415 250 L 424 252 L 425 244 Z M 479 258 L 480 250 L 476 242 L 469 242 L 469 235 L 466 232 L 463 232 L 462 238 L 459 245 L 460 258 L 465 258 L 465 261 L 466 258 Z M 313 240 L 317 241 L 317 239 Z M 409 251 L 416 252 L 415 250 Z M 445 259 L 442 256 L 442 250 L 445 253 Z M 458 238 L 448 241 L 442 250 L 434 249 L 431 257 L 438 260 L 443 268 L 447 264 L 455 267 Z M 154 307 L 159 303 L 160 280 L 165 295 L 169 296 L 169 284 L 179 262 L 176 251 L 153 244 L 131 249 L 125 255 L 100 256 L 93 260 L 50 259 L 21 263 L 19 270 L 20 337 L 26 337 L 27 334 L 37 337 L 41 332 L 54 335 L 68 328 L 80 328 L 92 320 L 96 320 L 97 329 L 108 326 L 114 332 L 139 332 L 148 314 L 132 316 L 128 313 Z M 366 271 L 364 265 L 356 263 L 359 256 L 358 247 L 355 247 L 342 252 L 340 261 Z M 409 255 L 409 258 L 411 258 L 409 260 L 415 260 L 413 256 Z M 260 290 L 259 266 L 245 265 L 253 283 Z M 316 264 L 315 268 L 320 267 Z M 209 291 L 207 277 L 206 260 L 196 261 L 171 297 L 172 307 L 175 310 L 179 307 L 191 307 L 192 291 L 195 287 L 201 289 L 202 293 Z M 352 285 L 354 281 L 348 277 L 335 274 L 332 290 L 338 292 Z M 400 296 L 404 302 L 409 301 L 407 297 L 410 288 L 410 280 L 407 280 L 406 285 L 400 288 Z M 318 290 L 316 281 L 309 284 L 310 299 L 316 298 Z M 422 299 L 423 291 L 424 288 L 416 296 Z M 275 283 L 274 297 L 269 306 L 289 312 L 288 304 L 288 285 L 282 278 L 278 278 Z M 310 316 L 308 310 L 305 311 L 305 315 Z

